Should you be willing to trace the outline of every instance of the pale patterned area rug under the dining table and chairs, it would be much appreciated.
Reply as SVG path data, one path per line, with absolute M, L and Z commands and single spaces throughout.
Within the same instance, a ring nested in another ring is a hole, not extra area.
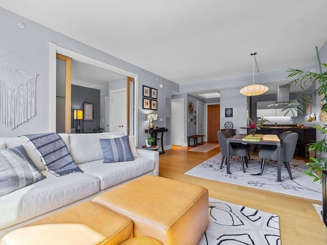
M 264 173 L 260 176 L 261 158 L 251 156 L 245 173 L 242 170 L 240 158 L 230 159 L 230 173 L 226 173 L 226 165 L 220 169 L 222 155 L 216 156 L 200 163 L 187 171 L 185 175 L 192 175 L 210 180 L 217 180 L 237 185 L 244 185 L 274 192 L 296 195 L 302 198 L 309 198 L 321 201 L 322 187 L 319 181 L 313 182 L 312 178 L 303 175 L 306 169 L 305 161 L 292 160 L 290 163 L 293 180 L 290 180 L 288 171 L 282 163 L 282 181 L 277 182 L 277 163 L 266 160 Z M 258 175 L 259 174 L 259 175 Z

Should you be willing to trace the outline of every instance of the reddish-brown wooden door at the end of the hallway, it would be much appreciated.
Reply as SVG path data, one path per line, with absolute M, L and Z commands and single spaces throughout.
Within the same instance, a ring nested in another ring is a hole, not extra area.
M 217 131 L 220 131 L 220 105 L 208 105 L 208 141 L 218 142 Z

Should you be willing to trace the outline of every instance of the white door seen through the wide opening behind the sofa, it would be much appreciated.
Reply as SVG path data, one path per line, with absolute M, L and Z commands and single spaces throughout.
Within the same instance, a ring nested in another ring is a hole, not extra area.
M 110 90 L 110 132 L 127 133 L 126 88 Z

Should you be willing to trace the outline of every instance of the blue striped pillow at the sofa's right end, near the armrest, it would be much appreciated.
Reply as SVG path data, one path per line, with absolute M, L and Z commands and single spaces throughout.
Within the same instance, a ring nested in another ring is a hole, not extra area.
M 103 163 L 134 161 L 128 135 L 114 139 L 100 139 Z

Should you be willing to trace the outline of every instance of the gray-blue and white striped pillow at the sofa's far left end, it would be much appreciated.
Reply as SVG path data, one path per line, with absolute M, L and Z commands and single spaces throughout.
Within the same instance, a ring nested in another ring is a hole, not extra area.
M 0 197 L 45 179 L 24 146 L 0 150 Z

